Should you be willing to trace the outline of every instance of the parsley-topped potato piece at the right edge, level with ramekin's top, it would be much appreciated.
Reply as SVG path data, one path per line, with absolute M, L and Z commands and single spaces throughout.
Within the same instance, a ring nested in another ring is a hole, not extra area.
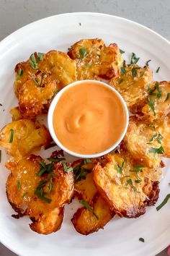
M 164 119 L 170 113 L 170 82 L 154 82 L 151 88 L 148 88 L 148 101 L 142 108 L 143 118 L 148 121 Z

